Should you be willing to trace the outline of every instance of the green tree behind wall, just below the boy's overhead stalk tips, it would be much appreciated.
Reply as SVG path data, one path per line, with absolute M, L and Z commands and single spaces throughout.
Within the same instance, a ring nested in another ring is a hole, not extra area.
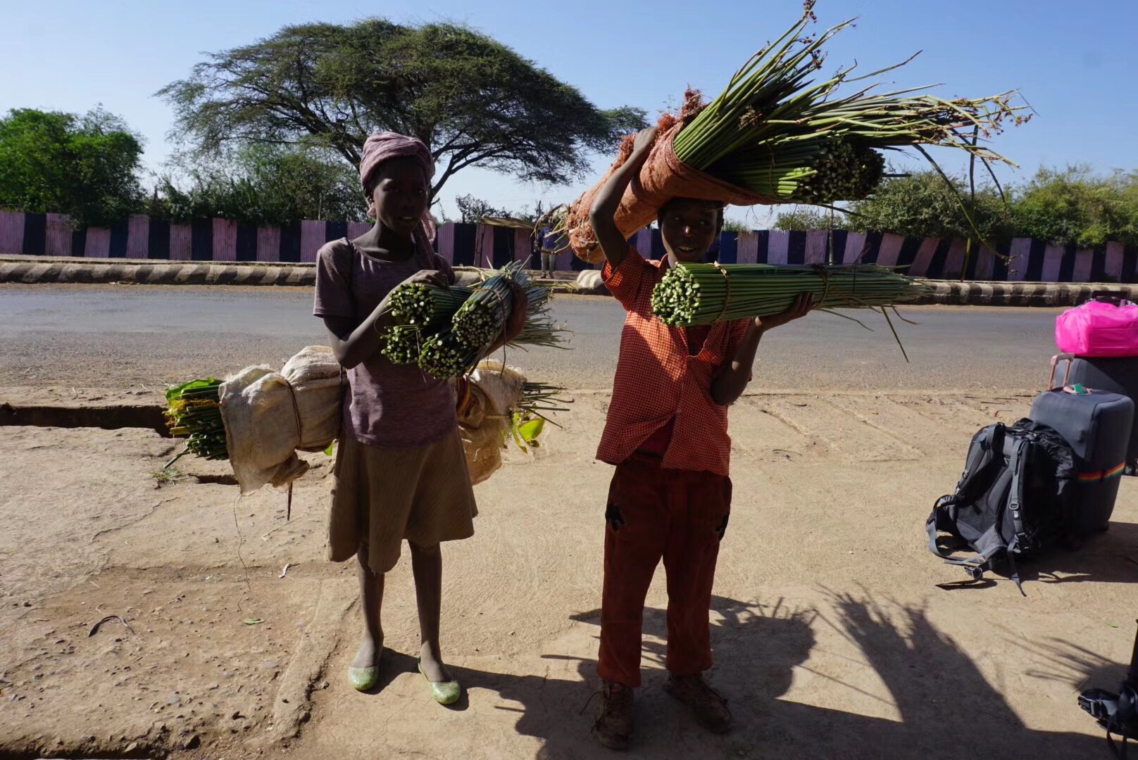
M 865 200 L 850 204 L 849 229 L 893 232 L 914 238 L 976 238 L 960 207 L 971 204 L 967 182 L 950 177 L 949 187 L 937 172 L 889 177 Z M 955 192 L 954 192 L 955 188 Z M 992 187 L 976 189 L 973 213 L 980 239 L 993 242 L 1013 237 L 1012 213 Z

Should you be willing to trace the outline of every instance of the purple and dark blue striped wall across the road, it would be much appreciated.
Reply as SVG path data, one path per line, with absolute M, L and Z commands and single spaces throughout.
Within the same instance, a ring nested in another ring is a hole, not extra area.
M 314 262 L 329 240 L 360 237 L 366 222 L 305 221 L 283 228 L 256 228 L 231 220 L 195 220 L 179 224 L 142 214 L 110 229 L 73 230 L 60 214 L 0 212 L 0 254 L 152 258 L 217 262 Z M 651 258 L 665 255 L 659 230 L 641 230 L 633 245 Z M 486 224 L 448 223 L 439 228 L 435 248 L 459 266 L 502 266 L 529 257 L 525 230 Z M 933 279 L 1025 282 L 1138 282 L 1138 248 L 1111 242 L 1103 248 L 1055 246 L 1017 238 L 997 251 L 967 255 L 962 240 L 921 240 L 880 232 L 724 232 L 712 249 L 724 264 L 818 264 L 857 261 L 904 266 Z M 1011 261 L 1008 261 L 1011 259 Z M 536 257 L 531 266 L 538 266 Z M 592 269 L 574 256 L 558 257 L 559 270 Z

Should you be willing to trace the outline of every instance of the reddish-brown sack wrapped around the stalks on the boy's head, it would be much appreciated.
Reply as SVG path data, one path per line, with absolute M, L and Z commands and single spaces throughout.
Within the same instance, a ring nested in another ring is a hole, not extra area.
M 655 221 L 660 207 L 673 198 L 718 200 L 734 206 L 772 203 L 768 198 L 717 180 L 681 162 L 676 157 L 673 141 L 685 124 L 686 119 L 677 119 L 674 116 L 665 116 L 660 121 L 660 131 L 652 146 L 652 151 L 640 174 L 633 177 L 628 184 L 628 189 L 625 190 L 620 200 L 620 207 L 617 209 L 615 217 L 617 229 L 620 230 L 626 240 Z M 620 143 L 617 160 L 604 173 L 601 181 L 586 190 L 569 207 L 567 220 L 569 245 L 578 258 L 589 264 L 603 262 L 604 254 L 601 253 L 593 225 L 588 221 L 588 209 L 593 206 L 596 193 L 601 191 L 612 173 L 628 160 L 633 151 L 634 140 L 635 135 L 625 138 Z

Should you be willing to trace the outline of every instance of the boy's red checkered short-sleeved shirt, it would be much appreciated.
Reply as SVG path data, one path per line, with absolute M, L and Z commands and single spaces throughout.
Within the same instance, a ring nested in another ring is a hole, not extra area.
M 652 314 L 652 288 L 667 270 L 667 258 L 648 262 L 629 247 L 619 267 L 605 262 L 601 273 L 628 316 L 596 459 L 609 464 L 624 462 L 674 419 L 663 466 L 726 476 L 731 468 L 727 407 L 711 399 L 711 382 L 734 358 L 750 320 L 717 323 L 703 349 L 691 356 L 686 331 L 670 328 Z

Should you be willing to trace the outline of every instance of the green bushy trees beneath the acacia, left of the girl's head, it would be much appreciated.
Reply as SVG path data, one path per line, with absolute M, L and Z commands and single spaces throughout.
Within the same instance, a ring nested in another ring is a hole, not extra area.
M 174 220 L 232 218 L 281 225 L 300 220 L 362 221 L 366 212 L 357 174 L 316 149 L 248 144 L 224 160 L 187 171 L 189 185 L 158 183 L 150 213 Z

